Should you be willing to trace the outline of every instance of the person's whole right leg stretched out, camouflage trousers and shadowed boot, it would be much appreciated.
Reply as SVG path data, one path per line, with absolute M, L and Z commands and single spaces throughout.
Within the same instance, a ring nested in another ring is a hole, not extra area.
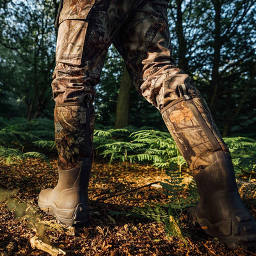
M 234 168 L 211 113 L 191 78 L 175 67 L 170 51 L 168 1 L 140 4 L 116 38 L 141 95 L 154 104 L 196 180 L 200 203 L 193 223 L 230 246 L 256 242 L 255 220 L 237 191 Z

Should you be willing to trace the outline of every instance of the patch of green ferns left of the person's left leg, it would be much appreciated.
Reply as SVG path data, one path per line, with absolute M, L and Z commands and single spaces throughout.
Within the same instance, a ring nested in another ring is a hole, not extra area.
M 54 124 L 51 120 L 38 118 L 28 122 L 25 118 L 12 118 L 2 119 L 0 124 L 4 127 L 0 130 L 1 161 L 15 163 L 15 160 L 34 157 L 49 162 L 42 151 L 52 152 L 55 149 Z

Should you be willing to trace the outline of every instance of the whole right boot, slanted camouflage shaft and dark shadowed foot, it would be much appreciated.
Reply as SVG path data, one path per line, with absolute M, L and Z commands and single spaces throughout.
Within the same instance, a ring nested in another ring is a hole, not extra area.
M 162 115 L 198 187 L 200 202 L 189 209 L 189 218 L 228 246 L 255 246 L 256 221 L 241 201 L 228 148 L 211 113 L 185 84 L 179 91 L 179 99 L 163 108 Z

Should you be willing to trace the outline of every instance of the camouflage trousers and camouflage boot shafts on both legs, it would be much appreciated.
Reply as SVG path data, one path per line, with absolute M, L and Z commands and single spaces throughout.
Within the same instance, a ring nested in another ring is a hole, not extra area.
M 230 159 L 204 99 L 191 78 L 175 67 L 168 2 L 61 1 L 52 90 L 63 168 L 74 168 L 83 157 L 92 156 L 94 87 L 111 44 L 124 58 L 138 91 L 161 111 L 194 175 L 212 163 L 218 150 Z

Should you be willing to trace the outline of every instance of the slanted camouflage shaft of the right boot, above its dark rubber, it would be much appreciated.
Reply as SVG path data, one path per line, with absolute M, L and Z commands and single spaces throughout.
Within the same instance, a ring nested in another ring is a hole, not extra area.
M 185 95 L 166 106 L 163 120 L 194 176 L 214 163 L 214 152 L 230 155 L 200 95 Z

